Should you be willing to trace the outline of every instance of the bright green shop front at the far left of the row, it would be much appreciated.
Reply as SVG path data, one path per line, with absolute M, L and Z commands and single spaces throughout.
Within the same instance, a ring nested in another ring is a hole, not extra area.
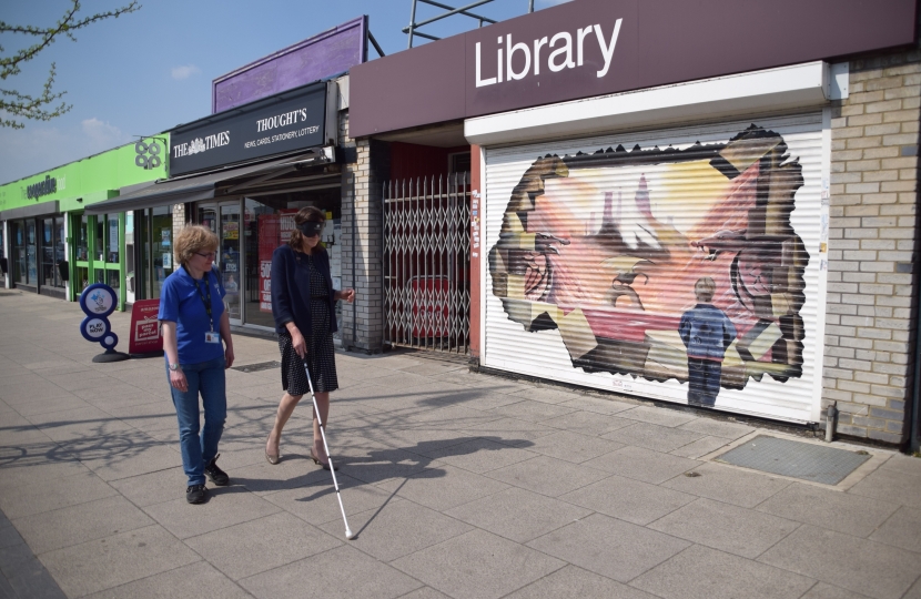
M 6 286 L 75 301 L 107 283 L 124 309 L 142 266 L 134 214 L 87 209 L 165 177 L 166 148 L 142 140 L 0 186 Z

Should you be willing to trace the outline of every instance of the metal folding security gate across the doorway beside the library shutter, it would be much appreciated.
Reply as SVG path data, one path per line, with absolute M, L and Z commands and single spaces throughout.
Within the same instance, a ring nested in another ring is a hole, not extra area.
M 384 343 L 467 354 L 467 173 L 384 184 Z

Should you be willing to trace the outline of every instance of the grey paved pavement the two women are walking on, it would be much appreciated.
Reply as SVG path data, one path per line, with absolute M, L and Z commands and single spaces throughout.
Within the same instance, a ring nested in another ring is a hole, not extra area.
M 713 460 L 787 433 L 425 353 L 336 356 L 355 539 L 308 409 L 264 458 L 279 368 L 227 372 L 232 485 L 191 506 L 162 359 L 95 364 L 81 319 L 0 291 L 0 598 L 921 599 L 921 459 L 863 447 L 842 483 L 803 483 Z

